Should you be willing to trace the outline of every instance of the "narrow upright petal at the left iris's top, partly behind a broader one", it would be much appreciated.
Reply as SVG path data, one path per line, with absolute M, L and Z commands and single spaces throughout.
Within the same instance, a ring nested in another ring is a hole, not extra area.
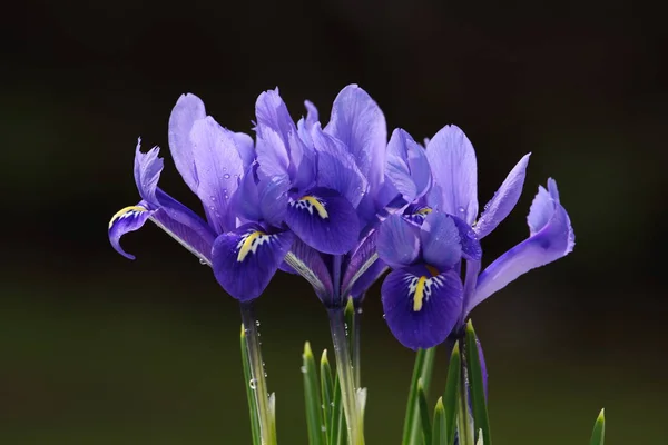
M 194 194 L 197 194 L 198 179 L 190 130 L 195 121 L 205 117 L 204 102 L 191 93 L 181 95 L 171 110 L 171 116 L 169 116 L 168 139 L 171 158 L 176 169 Z

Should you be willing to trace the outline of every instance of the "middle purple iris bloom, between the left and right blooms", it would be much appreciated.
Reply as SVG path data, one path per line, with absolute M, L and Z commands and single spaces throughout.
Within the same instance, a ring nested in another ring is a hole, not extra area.
M 296 235 L 282 269 L 302 275 L 323 303 L 337 307 L 373 283 L 365 273 L 375 270 L 376 228 L 395 204 L 380 206 L 376 196 L 384 179 L 385 118 L 356 85 L 337 95 L 324 128 L 315 106 L 305 106 L 306 117 L 294 123 L 277 90 L 258 98 L 258 184 L 271 185 L 265 190 L 275 206 L 273 222 Z

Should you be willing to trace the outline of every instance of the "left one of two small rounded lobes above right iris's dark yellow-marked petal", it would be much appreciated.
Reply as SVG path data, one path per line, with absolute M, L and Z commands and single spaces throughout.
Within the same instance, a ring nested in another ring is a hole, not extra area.
M 376 249 L 387 266 L 410 266 L 420 255 L 420 228 L 401 215 L 392 215 L 381 224 Z

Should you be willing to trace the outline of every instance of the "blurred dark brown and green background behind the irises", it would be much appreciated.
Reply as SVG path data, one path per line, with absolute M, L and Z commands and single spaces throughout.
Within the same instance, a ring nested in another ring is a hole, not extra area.
M 153 225 L 117 255 L 107 222 L 138 200 L 136 139 L 161 146 L 161 186 L 198 208 L 167 150 L 178 96 L 249 131 L 278 86 L 295 118 L 327 120 L 360 83 L 390 130 L 445 123 L 477 148 L 483 205 L 532 151 L 495 258 L 527 236 L 539 184 L 558 179 L 577 246 L 473 316 L 497 444 L 666 443 L 668 314 L 664 14 L 630 1 L 16 2 L 0 26 L 0 443 L 248 444 L 238 306 Z M 301 350 L 330 346 L 306 284 L 259 300 L 283 444 L 305 444 Z M 395 444 L 413 354 L 365 306 L 367 443 Z M 440 357 L 434 398 L 443 388 Z

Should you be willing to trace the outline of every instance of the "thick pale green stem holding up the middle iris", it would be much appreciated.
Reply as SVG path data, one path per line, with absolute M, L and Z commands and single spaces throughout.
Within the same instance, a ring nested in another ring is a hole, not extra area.
M 343 412 L 347 423 L 348 444 L 363 445 L 364 435 L 362 433 L 360 415 L 357 414 L 357 397 L 355 395 L 353 367 L 346 338 L 345 315 L 343 308 L 332 308 L 328 310 L 328 315 L 332 342 L 336 355 L 336 373 L 341 383 Z

